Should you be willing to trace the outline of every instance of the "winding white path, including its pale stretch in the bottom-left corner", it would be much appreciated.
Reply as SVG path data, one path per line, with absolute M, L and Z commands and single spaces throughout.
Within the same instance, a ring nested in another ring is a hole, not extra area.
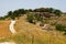
M 9 30 L 12 34 L 16 33 L 16 31 L 14 30 L 14 24 L 15 24 L 15 20 L 11 20 L 11 23 L 9 25 Z M 14 42 L 2 42 L 0 44 L 16 44 L 16 43 L 14 43 Z

